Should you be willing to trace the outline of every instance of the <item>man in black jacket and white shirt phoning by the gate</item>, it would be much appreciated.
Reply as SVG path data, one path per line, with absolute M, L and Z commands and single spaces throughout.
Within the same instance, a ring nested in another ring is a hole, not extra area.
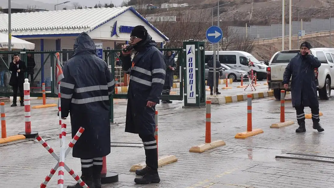
M 9 85 L 13 86 L 13 104 L 11 107 L 16 107 L 16 98 L 17 98 L 17 88 L 20 90 L 20 103 L 21 106 L 24 106 L 24 95 L 23 95 L 23 83 L 24 83 L 24 72 L 27 67 L 25 62 L 20 60 L 19 54 L 14 54 L 13 61 L 9 64 L 9 71 L 12 71 L 12 74 L 9 79 Z

